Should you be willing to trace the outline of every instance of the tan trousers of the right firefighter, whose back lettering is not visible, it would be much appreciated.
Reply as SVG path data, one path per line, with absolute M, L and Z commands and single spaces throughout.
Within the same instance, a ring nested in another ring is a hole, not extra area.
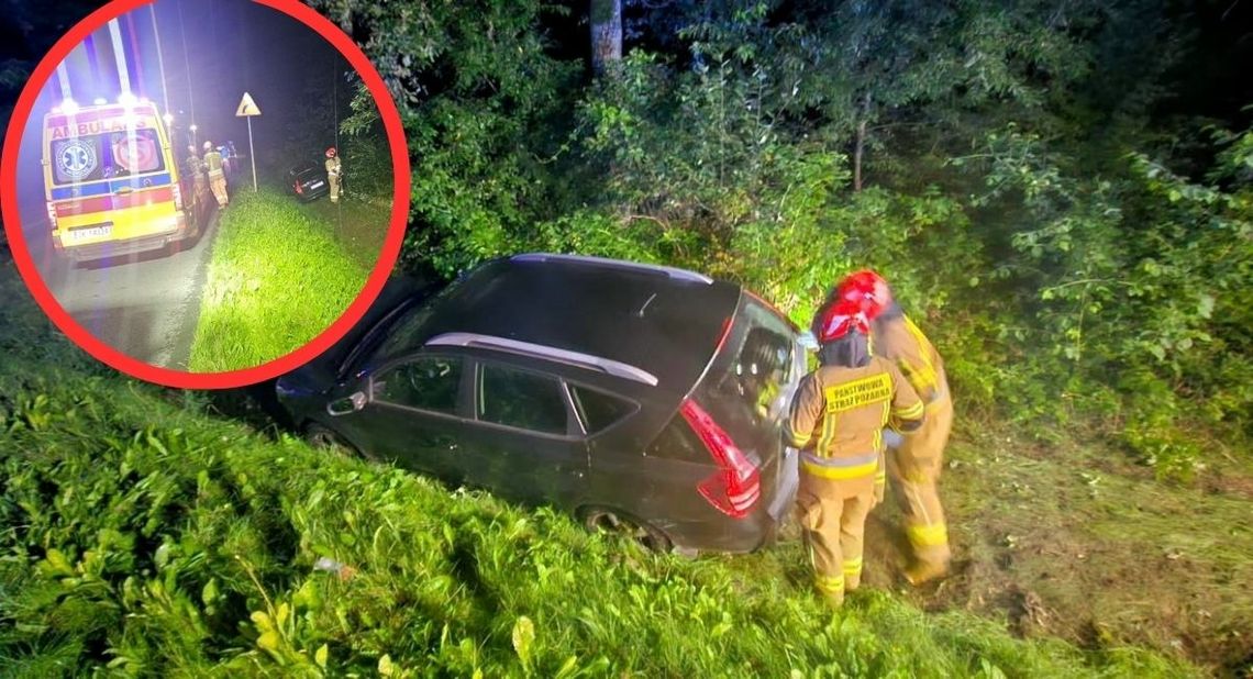
M 930 569 L 946 569 L 952 556 L 936 490 L 951 430 L 952 400 L 945 393 L 927 403 L 922 427 L 903 436 L 900 447 L 887 452 L 887 475 L 905 515 L 905 535 L 913 559 Z

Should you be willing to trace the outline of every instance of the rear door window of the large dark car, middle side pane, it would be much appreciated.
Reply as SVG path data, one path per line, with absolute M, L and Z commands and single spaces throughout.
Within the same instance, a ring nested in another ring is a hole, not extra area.
M 561 382 L 555 377 L 485 363 L 479 373 L 477 417 L 544 433 L 568 432 Z

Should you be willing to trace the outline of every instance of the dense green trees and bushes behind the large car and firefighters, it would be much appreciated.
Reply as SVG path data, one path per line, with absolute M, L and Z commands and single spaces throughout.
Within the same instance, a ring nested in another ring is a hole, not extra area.
M 872 266 L 967 412 L 1090 423 L 1182 477 L 1198 430 L 1253 431 L 1253 93 L 1173 96 L 1238 81 L 1205 6 L 628 1 L 593 78 L 564 8 L 315 5 L 398 98 L 411 266 L 662 261 L 802 323 Z

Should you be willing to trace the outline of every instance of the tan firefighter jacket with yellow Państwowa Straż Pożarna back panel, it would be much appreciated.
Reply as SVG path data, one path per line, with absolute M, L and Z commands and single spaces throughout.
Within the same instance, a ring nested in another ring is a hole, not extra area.
M 823 366 L 806 375 L 792 401 L 786 435 L 801 448 L 801 467 L 824 479 L 875 475 L 883 427 L 921 426 L 922 401 L 891 361 L 862 367 Z

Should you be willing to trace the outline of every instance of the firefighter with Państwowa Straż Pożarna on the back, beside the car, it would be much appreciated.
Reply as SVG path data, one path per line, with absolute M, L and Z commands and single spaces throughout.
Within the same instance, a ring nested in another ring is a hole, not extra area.
M 900 368 L 870 355 L 868 331 L 856 307 L 827 309 L 814 333 L 819 367 L 802 380 L 786 427 L 801 450 L 797 521 L 814 585 L 832 606 L 861 585 L 883 427 L 911 431 L 925 417 Z

